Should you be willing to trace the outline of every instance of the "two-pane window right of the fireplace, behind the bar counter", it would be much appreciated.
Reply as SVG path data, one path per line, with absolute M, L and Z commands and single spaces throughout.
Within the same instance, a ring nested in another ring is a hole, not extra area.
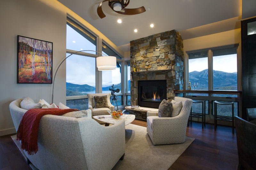
M 237 45 L 188 53 L 187 80 L 191 82 L 192 90 L 237 90 Z M 233 97 L 237 97 L 225 94 L 212 94 L 207 98 L 205 96 L 208 94 L 188 94 L 192 99 L 206 100 L 206 114 L 209 111 L 214 113 L 215 100 L 232 101 Z M 192 112 L 201 113 L 202 104 L 193 103 Z M 234 112 L 237 115 L 237 102 L 234 102 Z M 218 105 L 218 115 L 231 116 L 231 105 Z

